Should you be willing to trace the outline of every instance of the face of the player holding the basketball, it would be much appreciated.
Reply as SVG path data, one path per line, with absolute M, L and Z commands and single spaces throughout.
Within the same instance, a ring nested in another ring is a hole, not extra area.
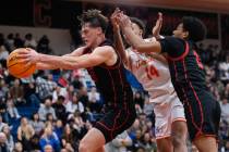
M 86 47 L 92 47 L 92 45 L 96 41 L 99 33 L 99 28 L 92 27 L 89 23 L 86 23 L 82 26 L 81 36 Z

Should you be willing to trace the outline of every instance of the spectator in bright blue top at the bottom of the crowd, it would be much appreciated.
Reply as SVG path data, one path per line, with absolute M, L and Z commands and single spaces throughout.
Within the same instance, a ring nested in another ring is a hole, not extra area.
M 58 139 L 58 136 L 53 132 L 51 124 L 47 124 L 45 131 L 39 140 L 39 144 L 43 152 L 45 152 L 45 148 L 48 144 L 51 145 L 55 152 L 60 151 L 60 141 Z

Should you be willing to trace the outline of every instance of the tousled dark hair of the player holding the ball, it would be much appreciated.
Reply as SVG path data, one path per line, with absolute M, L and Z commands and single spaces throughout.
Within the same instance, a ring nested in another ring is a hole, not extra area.
M 103 33 L 107 30 L 108 18 L 104 16 L 99 10 L 87 10 L 77 18 L 81 21 L 81 25 L 89 23 L 92 27 L 101 27 Z

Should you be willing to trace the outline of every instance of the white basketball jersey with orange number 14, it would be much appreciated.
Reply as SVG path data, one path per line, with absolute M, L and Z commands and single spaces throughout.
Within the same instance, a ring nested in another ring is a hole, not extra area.
M 177 96 L 171 83 L 167 63 L 138 53 L 132 48 L 129 48 L 125 51 L 131 60 L 131 72 L 142 84 L 144 89 L 148 91 L 150 102 L 166 103 L 172 97 Z

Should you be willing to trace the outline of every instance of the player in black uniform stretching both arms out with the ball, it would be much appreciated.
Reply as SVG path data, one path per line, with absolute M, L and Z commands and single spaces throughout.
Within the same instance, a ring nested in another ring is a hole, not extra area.
M 120 56 L 105 31 L 108 20 L 98 10 L 82 15 L 82 38 L 85 47 L 63 56 L 46 55 L 34 50 L 22 51 L 22 62 L 36 63 L 39 69 L 87 68 L 109 106 L 104 117 L 80 142 L 80 152 L 103 152 L 106 142 L 128 129 L 135 121 L 133 93 L 124 75 Z

